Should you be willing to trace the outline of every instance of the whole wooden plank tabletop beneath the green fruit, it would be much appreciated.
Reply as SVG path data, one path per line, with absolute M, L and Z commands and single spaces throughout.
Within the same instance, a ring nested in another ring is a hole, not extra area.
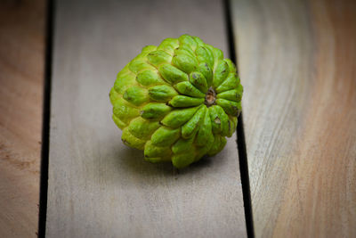
M 55 6 L 40 234 L 356 236 L 354 2 L 231 0 L 231 24 L 220 1 Z M 37 233 L 44 9 L 0 4 L 0 237 Z M 143 45 L 182 33 L 236 55 L 245 93 L 240 151 L 234 137 L 178 173 L 120 144 L 107 93 Z

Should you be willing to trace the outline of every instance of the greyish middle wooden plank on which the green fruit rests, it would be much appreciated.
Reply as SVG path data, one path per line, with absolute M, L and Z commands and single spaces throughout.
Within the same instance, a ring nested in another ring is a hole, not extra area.
M 234 135 L 190 168 L 125 147 L 109 89 L 144 45 L 189 33 L 227 51 L 220 1 L 58 1 L 48 237 L 245 237 Z

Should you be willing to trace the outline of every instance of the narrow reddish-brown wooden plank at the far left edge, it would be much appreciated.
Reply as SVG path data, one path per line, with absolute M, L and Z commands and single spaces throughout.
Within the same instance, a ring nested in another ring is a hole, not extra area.
M 36 237 L 44 1 L 0 4 L 0 237 Z

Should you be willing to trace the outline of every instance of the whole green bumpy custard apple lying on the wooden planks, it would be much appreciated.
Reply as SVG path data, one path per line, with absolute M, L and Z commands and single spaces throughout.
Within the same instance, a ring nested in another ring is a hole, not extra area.
M 117 74 L 109 97 L 124 144 L 183 168 L 223 150 L 243 87 L 235 65 L 198 37 L 148 45 Z

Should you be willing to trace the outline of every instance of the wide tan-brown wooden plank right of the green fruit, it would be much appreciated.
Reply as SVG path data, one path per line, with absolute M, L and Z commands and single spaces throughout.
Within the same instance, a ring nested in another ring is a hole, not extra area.
M 232 1 L 256 237 L 356 237 L 356 4 Z

